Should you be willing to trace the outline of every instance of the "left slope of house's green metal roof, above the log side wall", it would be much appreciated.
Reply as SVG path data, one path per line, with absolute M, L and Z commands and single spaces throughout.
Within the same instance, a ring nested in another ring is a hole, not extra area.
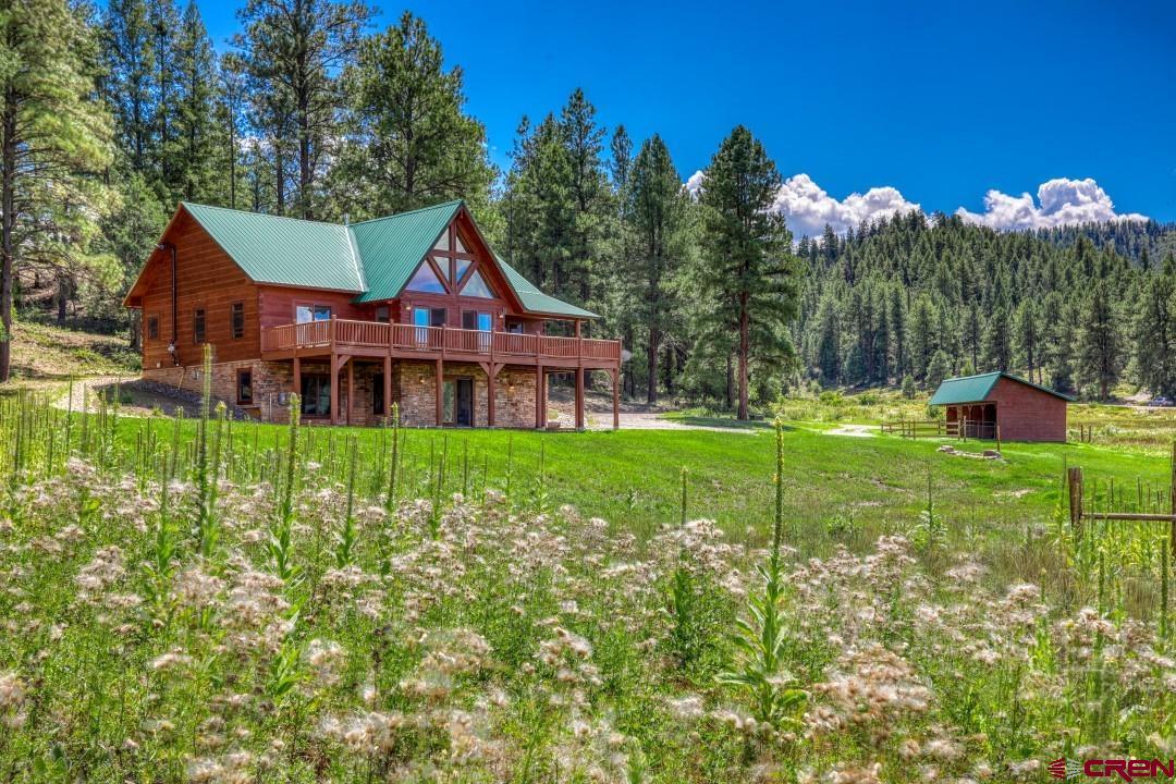
M 188 202 L 183 208 L 259 283 L 367 288 L 346 226 Z

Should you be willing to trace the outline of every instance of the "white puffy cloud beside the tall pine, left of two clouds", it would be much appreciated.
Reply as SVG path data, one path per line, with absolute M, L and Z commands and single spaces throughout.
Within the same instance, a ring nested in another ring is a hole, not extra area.
M 922 212 L 922 207 L 907 201 L 890 186 L 851 193 L 838 201 L 803 173 L 784 180 L 773 208 L 784 216 L 796 237 L 820 236 L 826 225 L 844 234 L 866 221 L 891 217 L 895 213 Z

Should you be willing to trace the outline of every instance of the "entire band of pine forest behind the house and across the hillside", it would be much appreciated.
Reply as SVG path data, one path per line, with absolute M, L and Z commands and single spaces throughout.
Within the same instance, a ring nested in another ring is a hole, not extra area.
M 13 306 L 134 347 L 121 299 L 181 200 L 341 221 L 461 197 L 512 263 L 601 314 L 592 333 L 623 339 L 624 390 L 649 402 L 746 414 L 814 378 L 989 368 L 1101 397 L 1176 388 L 1155 223 L 1001 235 L 913 214 L 797 244 L 743 127 L 688 193 L 657 134 L 606 128 L 569 85 L 520 118 L 503 170 L 412 13 L 377 29 L 361 2 L 249 0 L 238 19 L 219 52 L 191 0 L 0 14 L 0 381 Z

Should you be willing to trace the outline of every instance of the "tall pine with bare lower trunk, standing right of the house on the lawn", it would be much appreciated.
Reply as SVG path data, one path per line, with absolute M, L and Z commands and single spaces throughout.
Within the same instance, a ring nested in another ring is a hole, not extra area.
M 750 415 L 753 360 L 770 373 L 793 356 L 787 328 L 796 313 L 797 264 L 783 217 L 769 209 L 780 185 L 763 145 L 739 126 L 711 158 L 700 199 L 702 263 L 695 280 L 700 295 L 717 303 L 714 316 L 739 335 L 740 420 Z

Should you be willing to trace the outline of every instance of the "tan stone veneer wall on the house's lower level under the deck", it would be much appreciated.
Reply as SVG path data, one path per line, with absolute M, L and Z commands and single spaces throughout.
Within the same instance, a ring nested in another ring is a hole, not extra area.
M 383 366 L 352 360 L 355 364 L 355 398 L 352 402 L 352 424 L 374 425 L 383 422 L 383 415 L 373 411 L 373 387 Z M 263 422 L 286 422 L 289 408 L 281 402 L 282 393 L 293 391 L 294 368 L 290 362 L 265 362 L 246 360 L 218 362 L 212 366 L 212 393 L 216 400 L 236 403 L 236 371 L 253 370 L 253 406 L 241 406 L 246 413 Z M 302 361 L 302 374 L 329 374 L 329 363 Z M 474 380 L 474 427 L 487 425 L 486 373 L 476 364 L 446 364 L 446 380 Z M 347 368 L 339 374 L 339 414 L 346 420 Z M 143 370 L 146 381 L 162 387 L 179 388 L 200 395 L 203 393 L 203 368 L 200 366 L 149 368 Z M 432 362 L 393 362 L 392 397 L 400 406 L 401 422 L 408 427 L 435 427 L 436 393 Z M 495 425 L 502 428 L 535 427 L 535 373 L 530 369 L 503 369 L 499 371 L 495 406 Z M 307 418 L 308 424 L 321 420 Z

